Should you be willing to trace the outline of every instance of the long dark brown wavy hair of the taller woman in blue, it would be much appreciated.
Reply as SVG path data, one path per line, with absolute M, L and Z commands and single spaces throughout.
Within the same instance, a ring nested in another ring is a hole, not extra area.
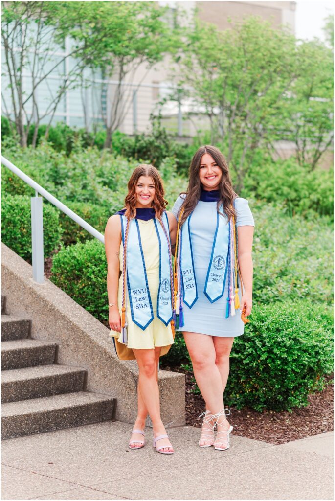
M 217 202 L 217 211 L 219 212 L 219 208 L 221 204 L 223 204 L 224 213 L 227 215 L 228 219 L 232 216 L 236 216 L 233 202 L 237 197 L 237 193 L 233 190 L 230 173 L 228 169 L 228 165 L 226 159 L 224 158 L 221 151 L 215 146 L 201 146 L 193 155 L 191 160 L 190 169 L 189 169 L 189 181 L 186 193 L 185 201 L 183 202 L 181 209 L 184 209 L 180 224 L 186 220 L 186 218 L 190 215 L 191 212 L 195 209 L 196 204 L 200 198 L 201 192 L 201 182 L 199 177 L 199 169 L 202 156 L 208 153 L 213 160 L 217 163 L 222 171 L 222 177 L 220 180 L 219 190 L 220 190 L 220 199 Z

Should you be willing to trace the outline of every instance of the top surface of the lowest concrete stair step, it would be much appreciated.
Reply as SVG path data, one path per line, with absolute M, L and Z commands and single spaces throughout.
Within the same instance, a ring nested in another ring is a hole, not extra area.
M 64 407 L 76 407 L 79 405 L 110 400 L 114 400 L 114 397 L 101 393 L 91 393 L 87 391 L 62 393 L 61 395 L 4 403 L 2 404 L 2 417 L 48 412 Z

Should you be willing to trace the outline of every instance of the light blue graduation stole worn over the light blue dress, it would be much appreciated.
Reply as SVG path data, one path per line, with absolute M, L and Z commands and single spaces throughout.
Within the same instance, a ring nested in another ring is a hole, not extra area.
M 220 207 L 220 211 L 223 212 L 223 205 Z M 182 274 L 183 301 L 189 308 L 192 308 L 198 299 L 190 235 L 191 216 L 192 214 L 188 216 L 181 227 L 180 241 L 180 270 Z M 211 303 L 220 299 L 224 293 L 227 272 L 229 272 L 228 249 L 228 219 L 226 216 L 217 212 L 216 230 L 204 288 L 204 294 Z

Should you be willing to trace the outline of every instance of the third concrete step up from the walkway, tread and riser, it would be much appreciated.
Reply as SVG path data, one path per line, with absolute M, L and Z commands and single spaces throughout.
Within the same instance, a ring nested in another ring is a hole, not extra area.
M 56 343 L 39 339 L 3 341 L 1 343 L 2 370 L 53 364 L 56 348 Z

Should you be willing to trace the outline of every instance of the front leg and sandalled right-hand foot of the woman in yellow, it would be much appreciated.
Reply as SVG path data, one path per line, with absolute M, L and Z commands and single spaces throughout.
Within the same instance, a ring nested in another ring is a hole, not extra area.
M 155 350 L 133 350 L 139 368 L 139 389 L 146 409 L 152 421 L 154 436 L 165 435 L 166 430 L 160 416 L 159 389 L 157 382 L 157 354 L 161 348 Z M 163 451 L 172 452 L 173 448 L 168 438 L 159 442 L 164 445 Z

